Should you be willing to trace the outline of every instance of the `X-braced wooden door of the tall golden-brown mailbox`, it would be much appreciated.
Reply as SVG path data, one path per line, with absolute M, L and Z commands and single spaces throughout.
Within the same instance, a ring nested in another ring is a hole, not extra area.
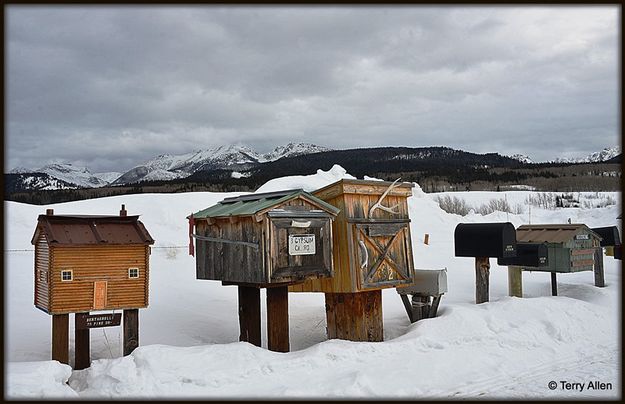
M 351 220 L 352 273 L 360 289 L 377 289 L 412 283 L 410 221 Z

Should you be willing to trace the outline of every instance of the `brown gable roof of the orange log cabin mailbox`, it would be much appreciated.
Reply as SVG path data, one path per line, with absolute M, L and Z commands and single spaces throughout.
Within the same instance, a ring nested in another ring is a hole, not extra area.
M 31 239 L 41 234 L 50 245 L 154 244 L 139 216 L 39 215 Z

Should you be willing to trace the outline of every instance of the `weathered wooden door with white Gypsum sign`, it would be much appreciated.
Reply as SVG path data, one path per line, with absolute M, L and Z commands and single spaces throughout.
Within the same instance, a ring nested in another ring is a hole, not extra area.
M 332 276 L 331 232 L 329 218 L 272 217 L 271 282 Z

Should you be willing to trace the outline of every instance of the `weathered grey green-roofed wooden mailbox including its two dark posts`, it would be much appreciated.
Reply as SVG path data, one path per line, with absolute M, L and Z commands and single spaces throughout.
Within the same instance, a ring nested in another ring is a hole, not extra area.
M 240 341 L 261 346 L 260 288 L 267 288 L 267 346 L 289 351 L 287 286 L 333 275 L 338 211 L 296 189 L 226 198 L 187 217 L 196 278 L 238 286 Z

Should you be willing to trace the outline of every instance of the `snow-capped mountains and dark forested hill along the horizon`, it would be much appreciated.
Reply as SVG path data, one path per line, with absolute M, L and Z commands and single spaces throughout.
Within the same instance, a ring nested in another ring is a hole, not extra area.
M 305 161 L 290 159 L 314 153 L 321 153 L 318 159 L 307 158 Z M 606 162 L 620 158 L 620 153 L 620 147 L 615 146 L 605 148 L 581 159 L 556 159 L 551 163 Z M 289 170 L 294 165 L 302 165 L 302 169 L 304 168 L 303 165 L 306 165 L 307 170 L 310 168 L 308 165 L 314 165 L 317 161 L 335 159 L 337 164 L 341 164 L 343 159 L 352 161 L 355 155 L 362 159 L 357 164 L 362 166 L 363 172 L 367 171 L 368 165 L 375 164 L 376 160 L 384 161 L 384 164 L 395 162 L 392 164 L 398 169 L 406 169 L 407 165 L 414 165 L 415 161 L 419 161 L 421 165 L 427 165 L 428 161 L 436 161 L 435 164 L 439 164 L 443 160 L 454 160 L 468 162 L 472 167 L 479 167 L 480 165 L 483 167 L 510 166 L 513 162 L 534 163 L 529 157 L 521 154 L 513 156 L 501 156 L 496 153 L 480 155 L 446 147 L 331 150 L 310 143 L 288 143 L 263 154 L 246 146 L 228 145 L 179 155 L 162 154 L 123 173 L 91 173 L 86 167 L 78 167 L 70 163 L 48 164 L 36 170 L 17 168 L 5 175 L 5 190 L 17 192 L 23 190 L 99 188 L 150 181 L 184 181 L 187 178 L 189 180 L 206 180 L 211 175 L 217 175 L 217 172 L 222 176 L 226 172 L 232 178 L 242 178 L 251 175 L 252 172 L 257 172 L 258 170 L 255 168 L 261 165 L 266 168 L 267 173 L 281 169 Z M 269 164 L 280 159 L 286 159 L 285 163 Z

